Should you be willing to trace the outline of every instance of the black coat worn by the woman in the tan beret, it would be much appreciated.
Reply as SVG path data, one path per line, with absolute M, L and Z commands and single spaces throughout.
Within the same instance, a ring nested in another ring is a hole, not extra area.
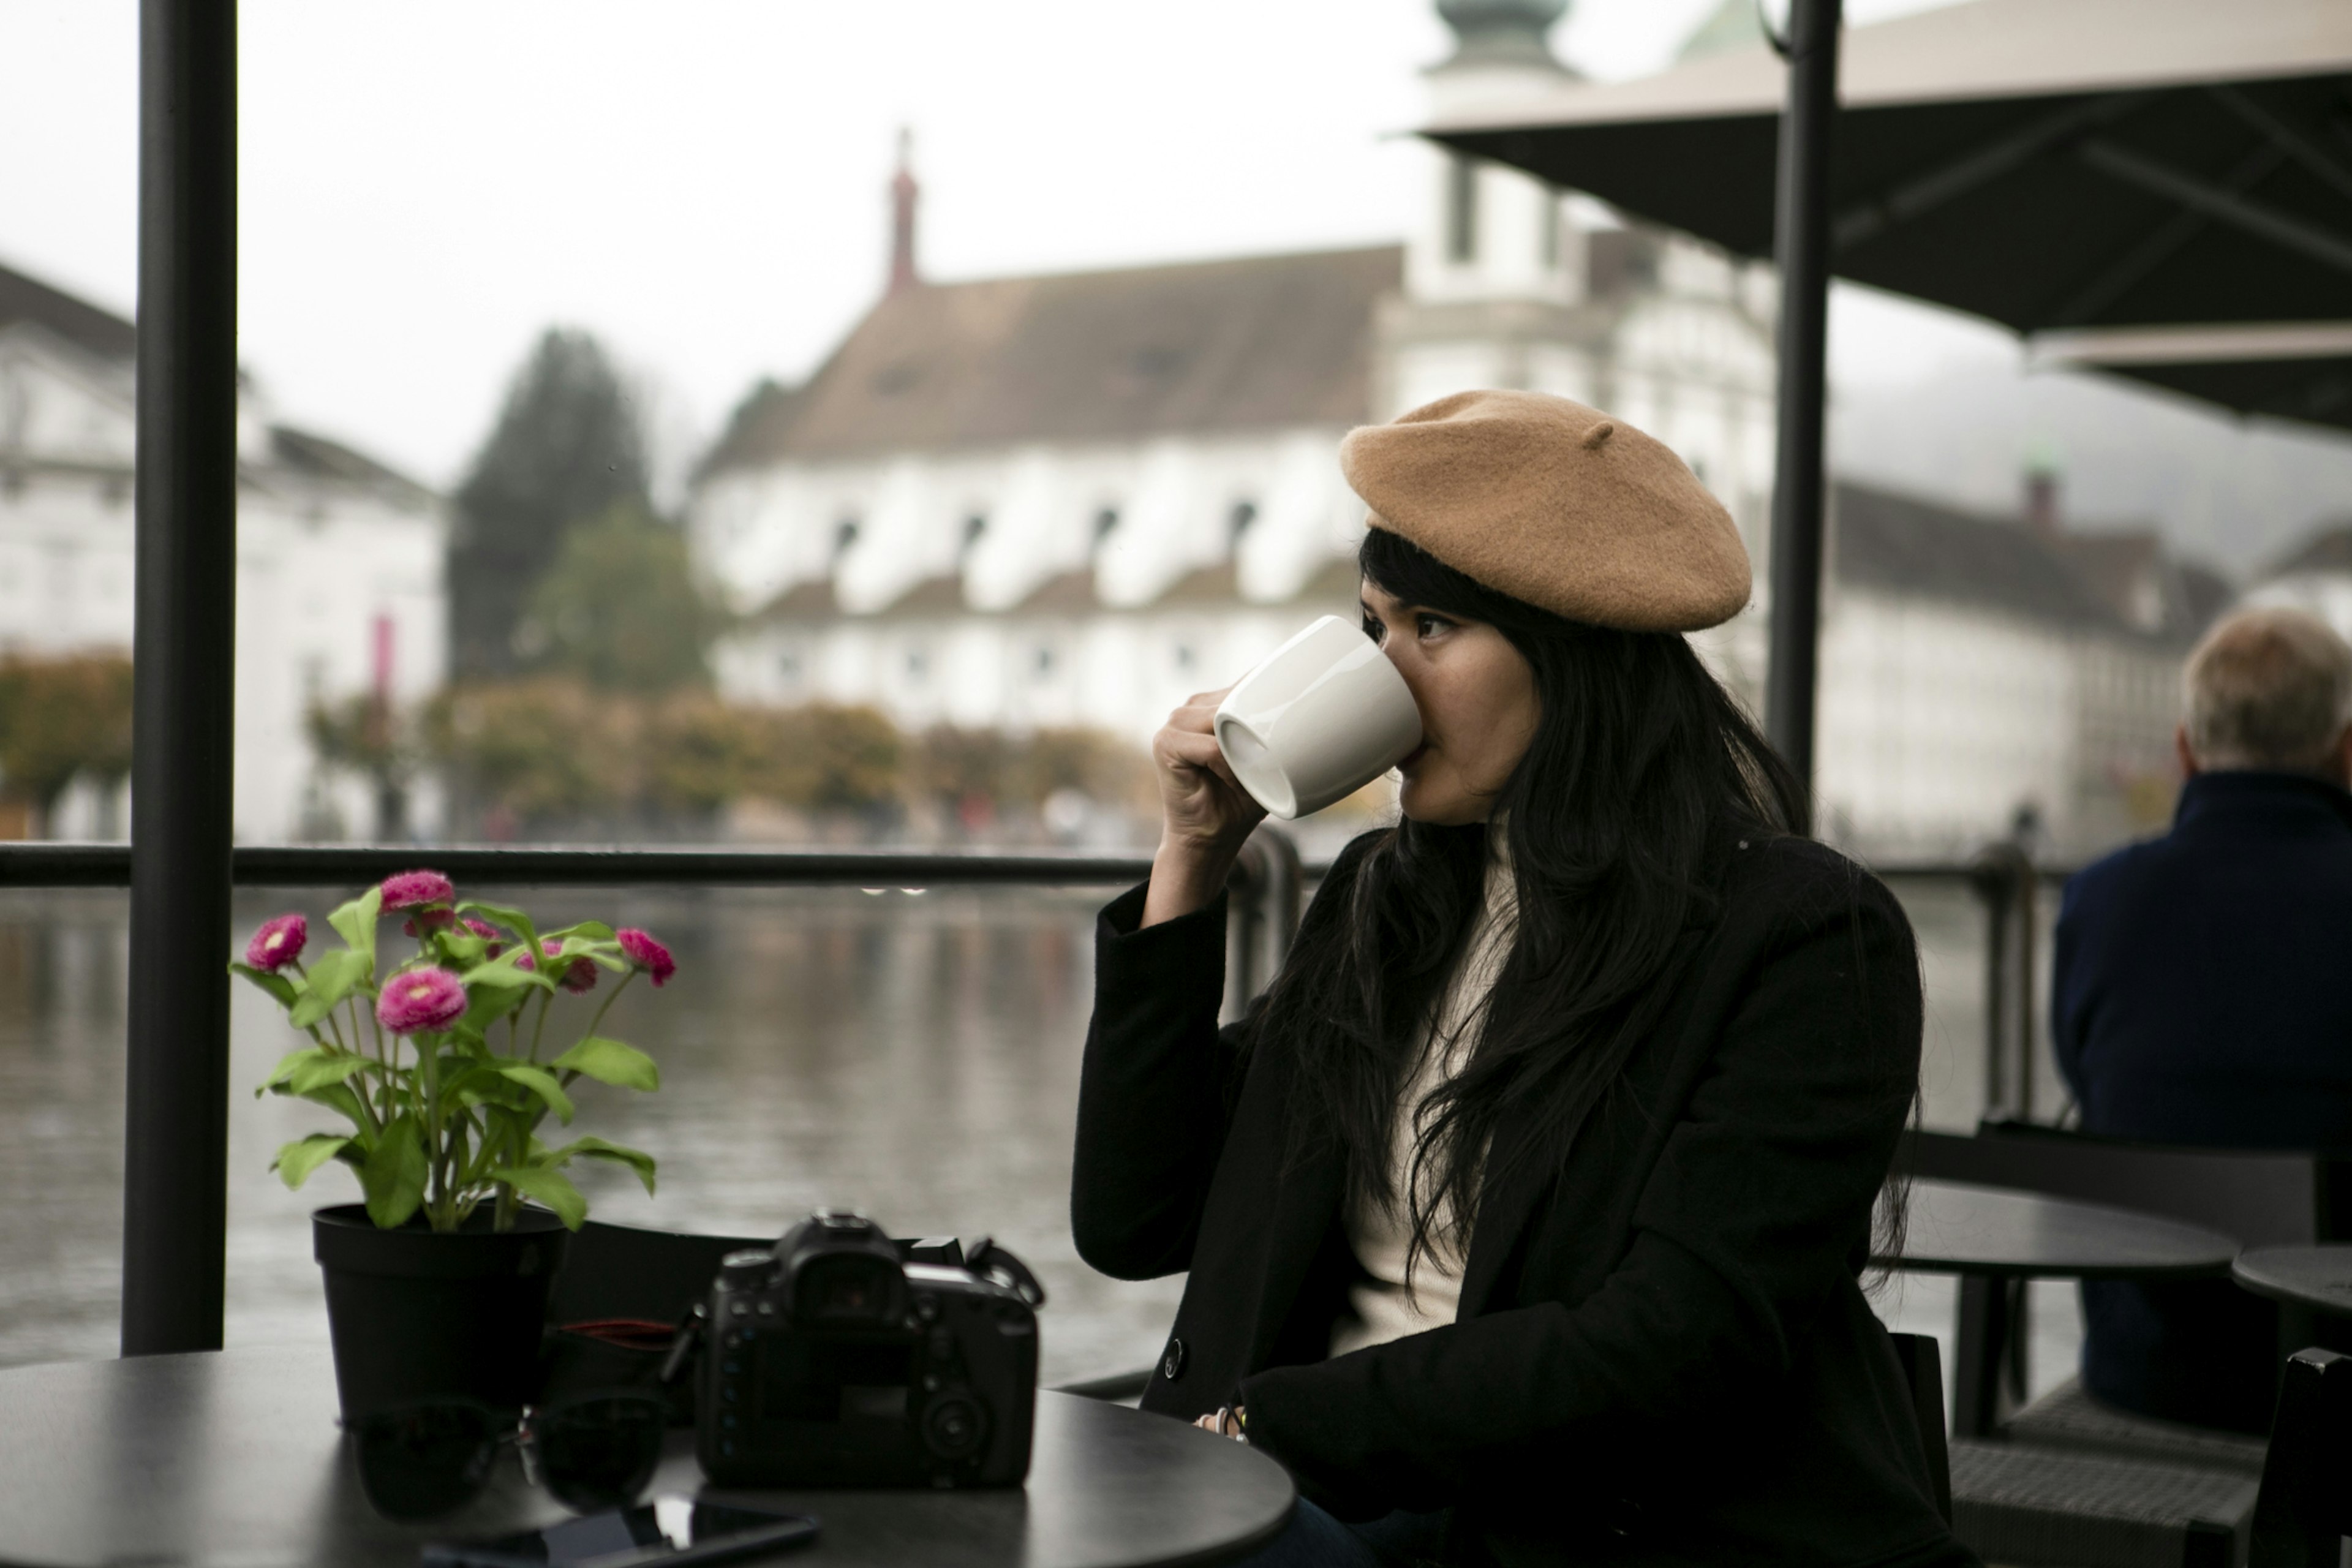
M 1244 1403 L 1308 1497 L 1454 1509 L 1461 1561 L 1973 1561 L 1858 1286 L 1917 1079 L 1910 926 L 1802 839 L 1740 846 L 1722 893 L 1566 1161 L 1482 1197 L 1458 1321 L 1336 1359 L 1343 1175 L 1287 1159 L 1282 1041 L 1216 1025 L 1223 905 L 1105 907 L 1070 1213 L 1105 1274 L 1190 1269 L 1143 1406 Z

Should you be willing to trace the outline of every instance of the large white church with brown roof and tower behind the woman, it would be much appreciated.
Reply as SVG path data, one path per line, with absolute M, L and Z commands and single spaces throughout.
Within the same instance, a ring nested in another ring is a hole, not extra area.
M 1564 5 L 1442 0 L 1439 106 L 1559 78 L 1543 35 Z M 901 169 L 887 294 L 699 473 L 699 569 L 750 616 L 722 686 L 1148 736 L 1310 611 L 1355 614 L 1338 437 L 1468 386 L 1621 411 L 1762 545 L 1769 280 L 1416 155 L 1404 244 L 957 284 L 917 273 Z

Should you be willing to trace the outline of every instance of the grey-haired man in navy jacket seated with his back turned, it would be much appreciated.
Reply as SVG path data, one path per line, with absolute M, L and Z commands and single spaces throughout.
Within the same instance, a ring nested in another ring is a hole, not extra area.
M 2051 1039 L 2082 1128 L 2352 1152 L 2352 646 L 2298 609 L 2190 654 L 2173 827 L 2065 889 Z M 2277 1309 L 2227 1281 L 2084 1284 L 2082 1385 L 2270 1429 Z

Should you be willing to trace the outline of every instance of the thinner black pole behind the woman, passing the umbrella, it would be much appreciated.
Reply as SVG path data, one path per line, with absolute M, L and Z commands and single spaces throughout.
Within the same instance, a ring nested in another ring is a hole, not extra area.
M 1820 430 L 1830 348 L 1830 141 L 1842 0 L 1792 0 L 1780 115 L 1780 442 L 1771 491 L 1771 663 L 1764 733 L 1813 783 L 1820 658 Z

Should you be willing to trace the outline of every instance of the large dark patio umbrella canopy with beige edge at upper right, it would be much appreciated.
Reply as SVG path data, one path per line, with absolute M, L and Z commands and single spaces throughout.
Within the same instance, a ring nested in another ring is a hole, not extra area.
M 1428 134 L 1766 256 L 1785 80 L 1755 47 Z M 1846 33 L 1839 101 L 1839 277 L 2025 334 L 2352 320 L 2347 0 L 1973 0 Z M 2277 393 L 2277 367 L 2112 369 Z

